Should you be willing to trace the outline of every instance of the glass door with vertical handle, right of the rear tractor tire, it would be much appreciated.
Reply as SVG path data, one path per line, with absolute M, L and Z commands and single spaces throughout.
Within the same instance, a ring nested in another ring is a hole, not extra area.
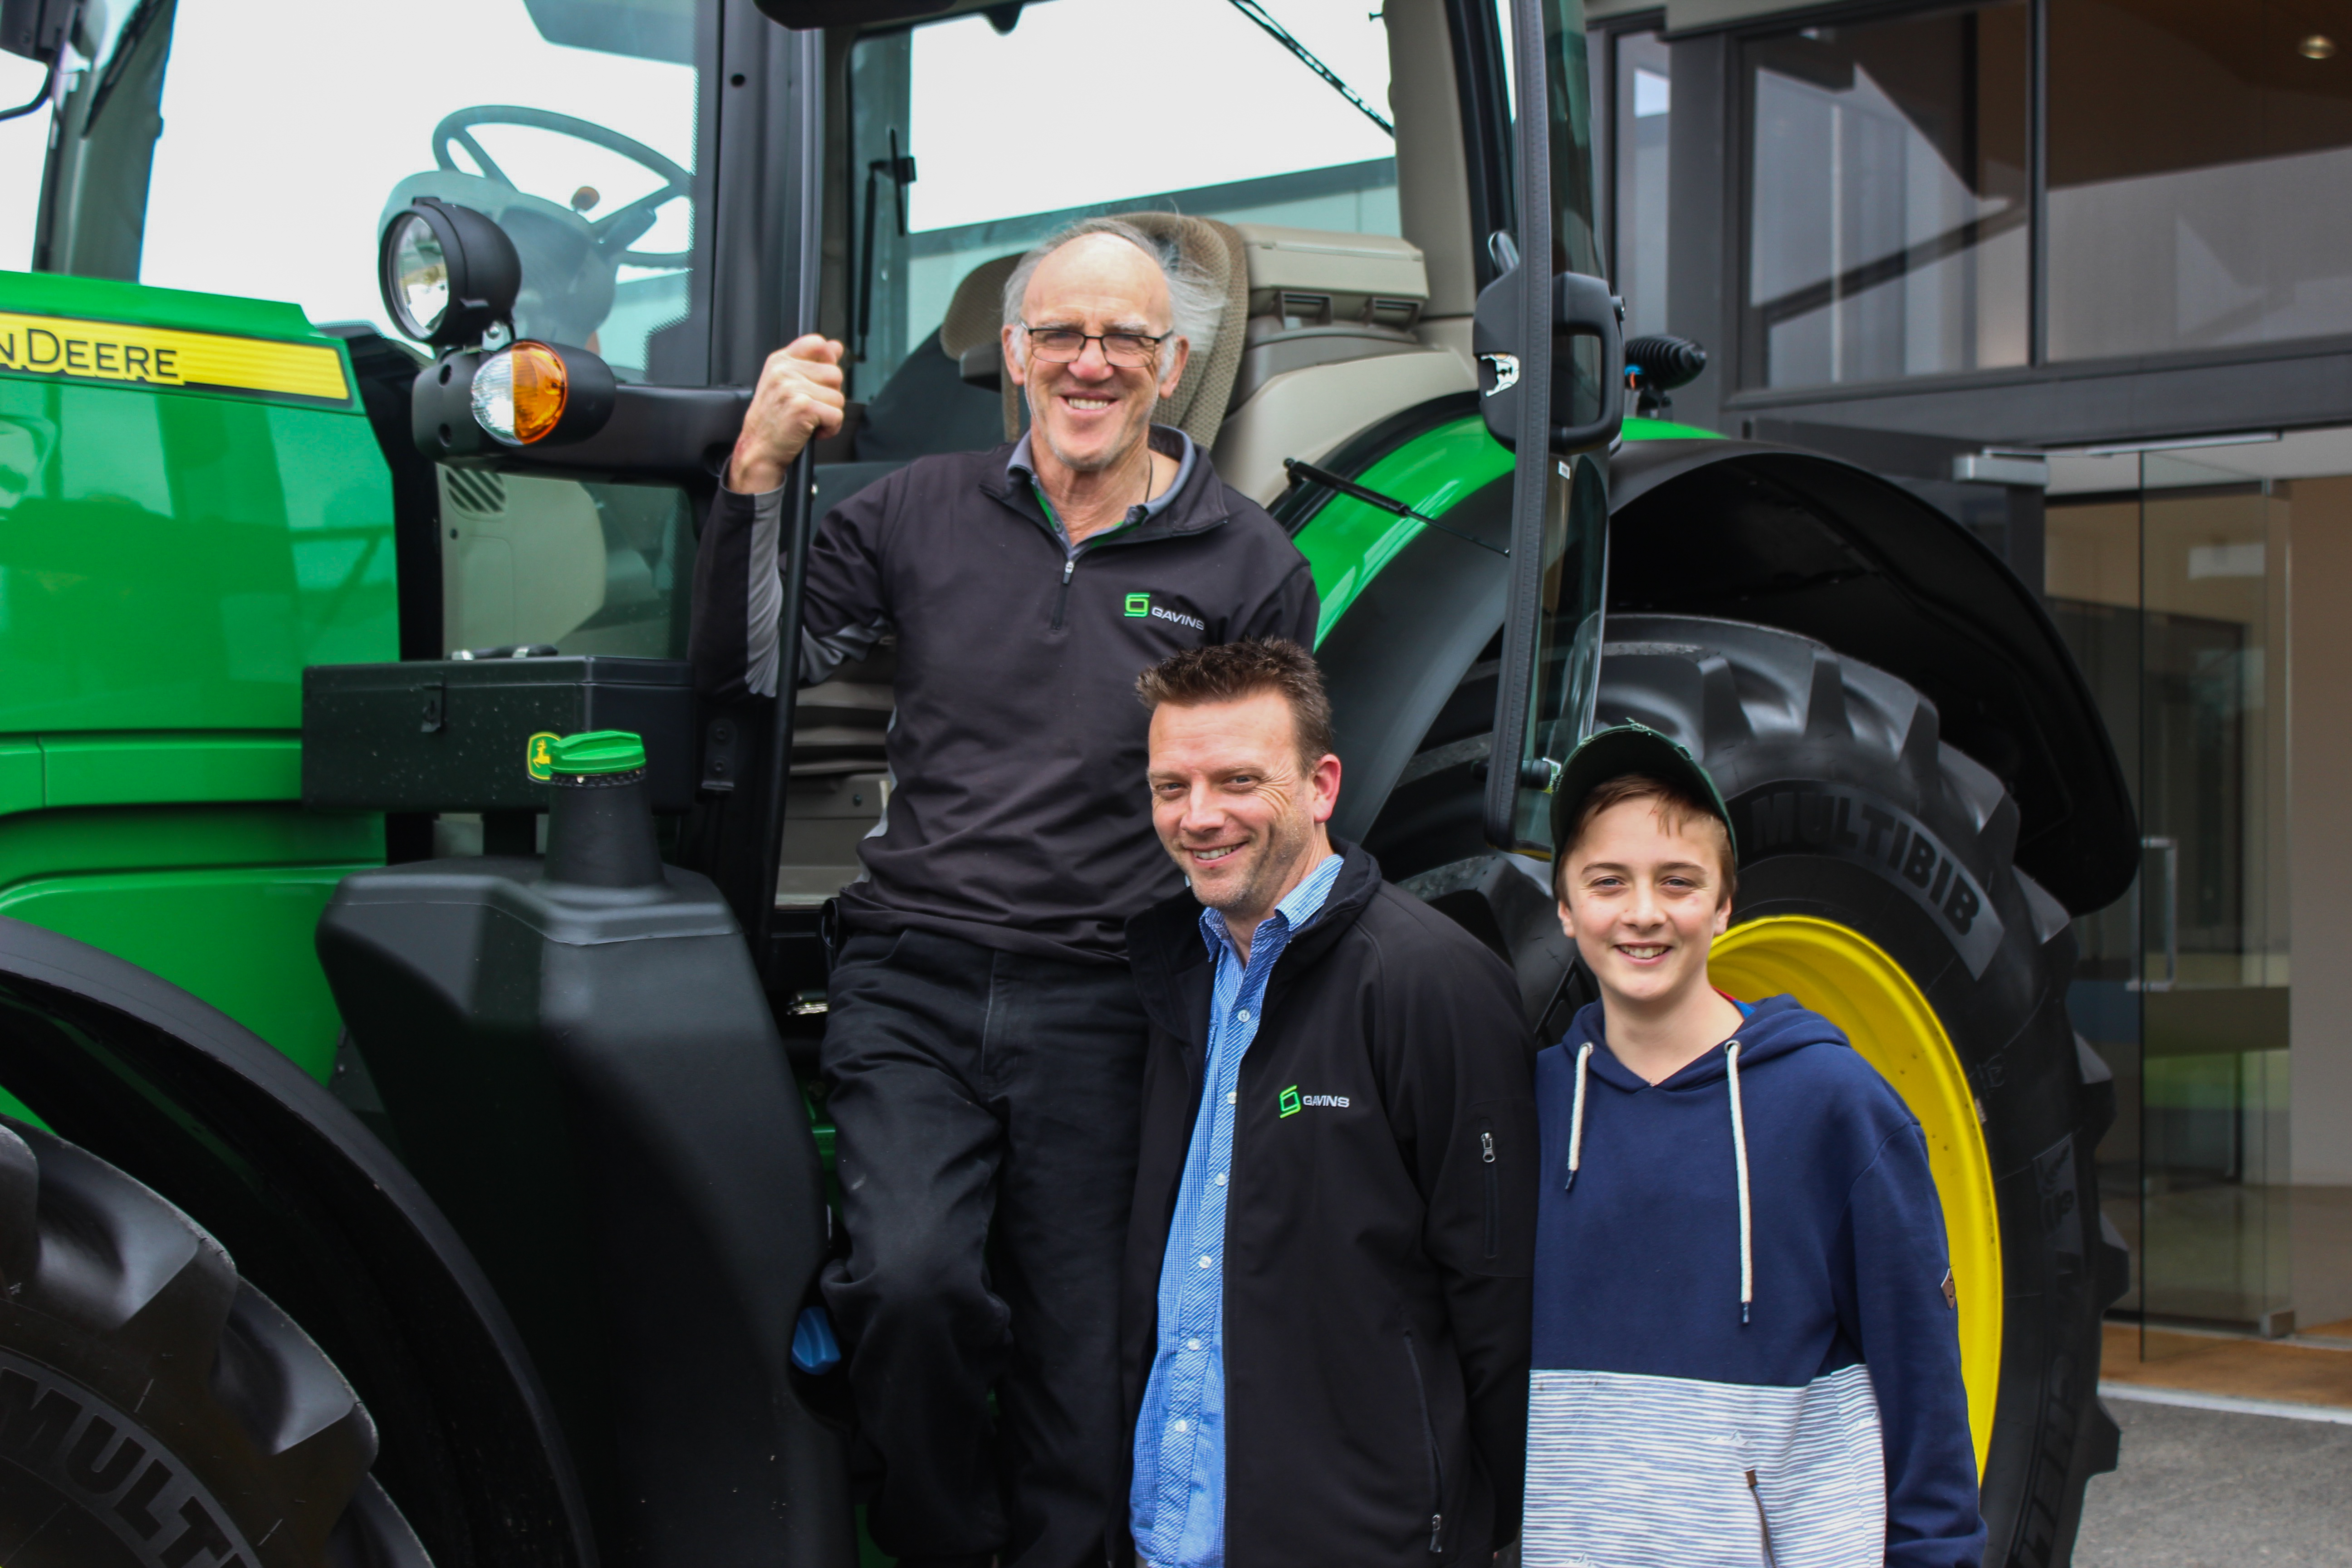
M 2140 458 L 2143 1305 L 2256 1333 L 2291 1328 L 2284 512 Z

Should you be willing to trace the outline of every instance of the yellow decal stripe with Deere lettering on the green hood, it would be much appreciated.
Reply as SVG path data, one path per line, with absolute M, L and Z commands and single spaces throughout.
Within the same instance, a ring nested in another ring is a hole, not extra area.
M 350 400 L 343 357 L 318 343 L 82 322 L 61 315 L 0 313 L 0 371 Z

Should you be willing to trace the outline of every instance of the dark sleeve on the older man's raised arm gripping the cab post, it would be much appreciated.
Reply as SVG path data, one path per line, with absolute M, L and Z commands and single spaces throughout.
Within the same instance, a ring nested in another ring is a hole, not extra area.
M 863 658 L 889 611 L 882 592 L 882 498 L 870 487 L 826 512 L 802 592 L 800 684 Z M 746 496 L 720 487 L 694 555 L 694 689 L 713 701 L 776 696 L 783 616 L 783 487 Z

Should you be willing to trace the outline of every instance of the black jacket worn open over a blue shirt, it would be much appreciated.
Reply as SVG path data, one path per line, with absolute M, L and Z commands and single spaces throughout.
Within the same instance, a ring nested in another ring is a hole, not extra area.
M 1230 1568 L 1484 1563 L 1519 1530 L 1534 1039 L 1510 971 L 1362 849 L 1282 952 L 1225 1208 Z M 1216 971 L 1190 893 L 1129 922 L 1150 1044 L 1122 1291 L 1134 1432 Z M 1110 1561 L 1131 1563 L 1120 1455 Z

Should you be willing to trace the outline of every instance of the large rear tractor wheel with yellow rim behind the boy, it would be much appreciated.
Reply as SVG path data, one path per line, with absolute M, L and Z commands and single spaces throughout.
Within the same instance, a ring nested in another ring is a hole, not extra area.
M 2114 1084 L 2065 1011 L 2067 912 L 2020 872 L 2002 780 L 1912 686 L 1795 632 L 1609 618 L 1599 722 L 1637 719 L 1715 776 L 1738 832 L 1738 997 L 1844 1027 L 1929 1138 L 1959 1291 L 1985 1563 L 2053 1568 L 2114 1467 L 2100 1316 L 2129 1258 L 2098 1213 Z

